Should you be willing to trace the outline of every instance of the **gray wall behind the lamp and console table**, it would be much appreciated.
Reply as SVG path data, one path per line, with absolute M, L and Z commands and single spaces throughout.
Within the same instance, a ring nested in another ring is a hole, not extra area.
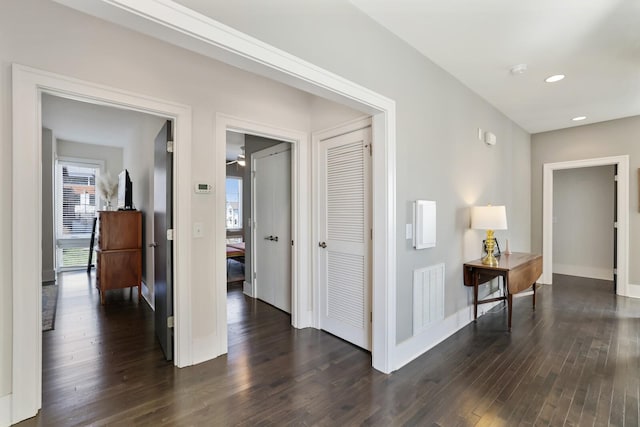
M 396 101 L 398 342 L 413 333 L 415 268 L 445 263 L 445 316 L 472 301 L 462 264 L 479 257 L 482 233 L 469 230 L 469 206 L 505 204 L 509 230 L 497 237 L 530 249 L 529 134 L 347 1 L 179 3 Z M 478 127 L 498 144 L 478 141 Z M 437 202 L 434 249 L 415 251 L 404 238 L 416 199 Z

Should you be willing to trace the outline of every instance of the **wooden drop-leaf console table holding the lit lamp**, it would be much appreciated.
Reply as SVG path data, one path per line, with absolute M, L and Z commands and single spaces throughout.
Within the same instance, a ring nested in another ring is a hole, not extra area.
M 542 256 L 514 252 L 502 254 L 497 266 L 484 265 L 477 259 L 464 264 L 464 284 L 473 286 L 473 320 L 478 318 L 478 304 L 507 300 L 509 329 L 511 329 L 511 312 L 513 295 L 533 288 L 533 308 L 536 308 L 536 280 L 542 274 Z M 496 277 L 502 277 L 503 296 L 478 300 L 478 286 Z

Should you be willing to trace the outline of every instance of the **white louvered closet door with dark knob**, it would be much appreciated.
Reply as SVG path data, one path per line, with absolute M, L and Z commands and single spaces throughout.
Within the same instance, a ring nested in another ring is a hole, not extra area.
M 371 128 L 320 143 L 320 327 L 371 350 Z

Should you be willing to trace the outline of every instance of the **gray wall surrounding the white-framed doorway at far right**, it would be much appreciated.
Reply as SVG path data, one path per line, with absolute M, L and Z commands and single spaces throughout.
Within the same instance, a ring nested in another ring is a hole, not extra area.
M 542 253 L 542 168 L 545 163 L 629 155 L 629 236 L 640 233 L 638 175 L 640 116 L 578 126 L 531 137 L 531 242 Z M 555 232 L 555 231 L 554 231 Z M 629 259 L 640 257 L 640 240 L 629 238 Z M 629 282 L 640 284 L 640 263 L 629 263 Z

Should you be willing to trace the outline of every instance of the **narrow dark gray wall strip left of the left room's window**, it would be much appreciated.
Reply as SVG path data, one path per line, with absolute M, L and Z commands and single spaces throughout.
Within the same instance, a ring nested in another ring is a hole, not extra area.
M 53 215 L 56 140 L 51 129 L 42 129 L 42 281 L 55 276 L 55 217 Z

